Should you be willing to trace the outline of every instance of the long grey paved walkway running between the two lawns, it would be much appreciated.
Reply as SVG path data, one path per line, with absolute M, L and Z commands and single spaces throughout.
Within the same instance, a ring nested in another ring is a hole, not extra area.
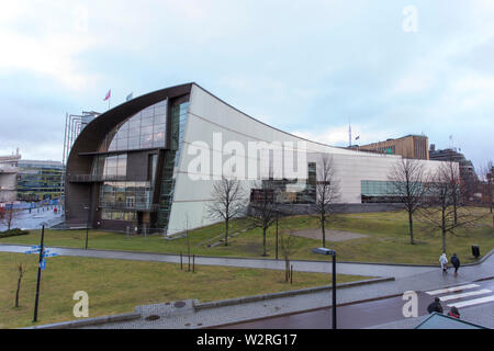
M 0 252 L 25 252 L 27 251 L 29 248 L 30 246 L 0 244 Z M 180 263 L 180 256 L 177 254 L 109 251 L 109 250 L 92 250 L 92 249 L 85 250 L 85 249 L 52 248 L 52 247 L 48 248 L 50 252 L 56 252 L 60 256 Z M 330 273 L 332 272 L 330 260 L 332 257 L 328 256 L 327 261 L 292 260 L 291 264 L 293 264 L 293 270 L 295 272 Z M 183 262 L 184 263 L 188 262 L 187 257 L 183 258 Z M 277 261 L 272 259 L 195 257 L 195 264 L 284 270 L 283 260 Z M 435 270 L 437 270 L 437 268 L 435 267 L 409 267 L 409 265 L 393 265 L 393 264 L 341 263 L 341 262 L 337 263 L 337 273 L 339 274 L 353 274 L 366 276 L 405 278 Z

